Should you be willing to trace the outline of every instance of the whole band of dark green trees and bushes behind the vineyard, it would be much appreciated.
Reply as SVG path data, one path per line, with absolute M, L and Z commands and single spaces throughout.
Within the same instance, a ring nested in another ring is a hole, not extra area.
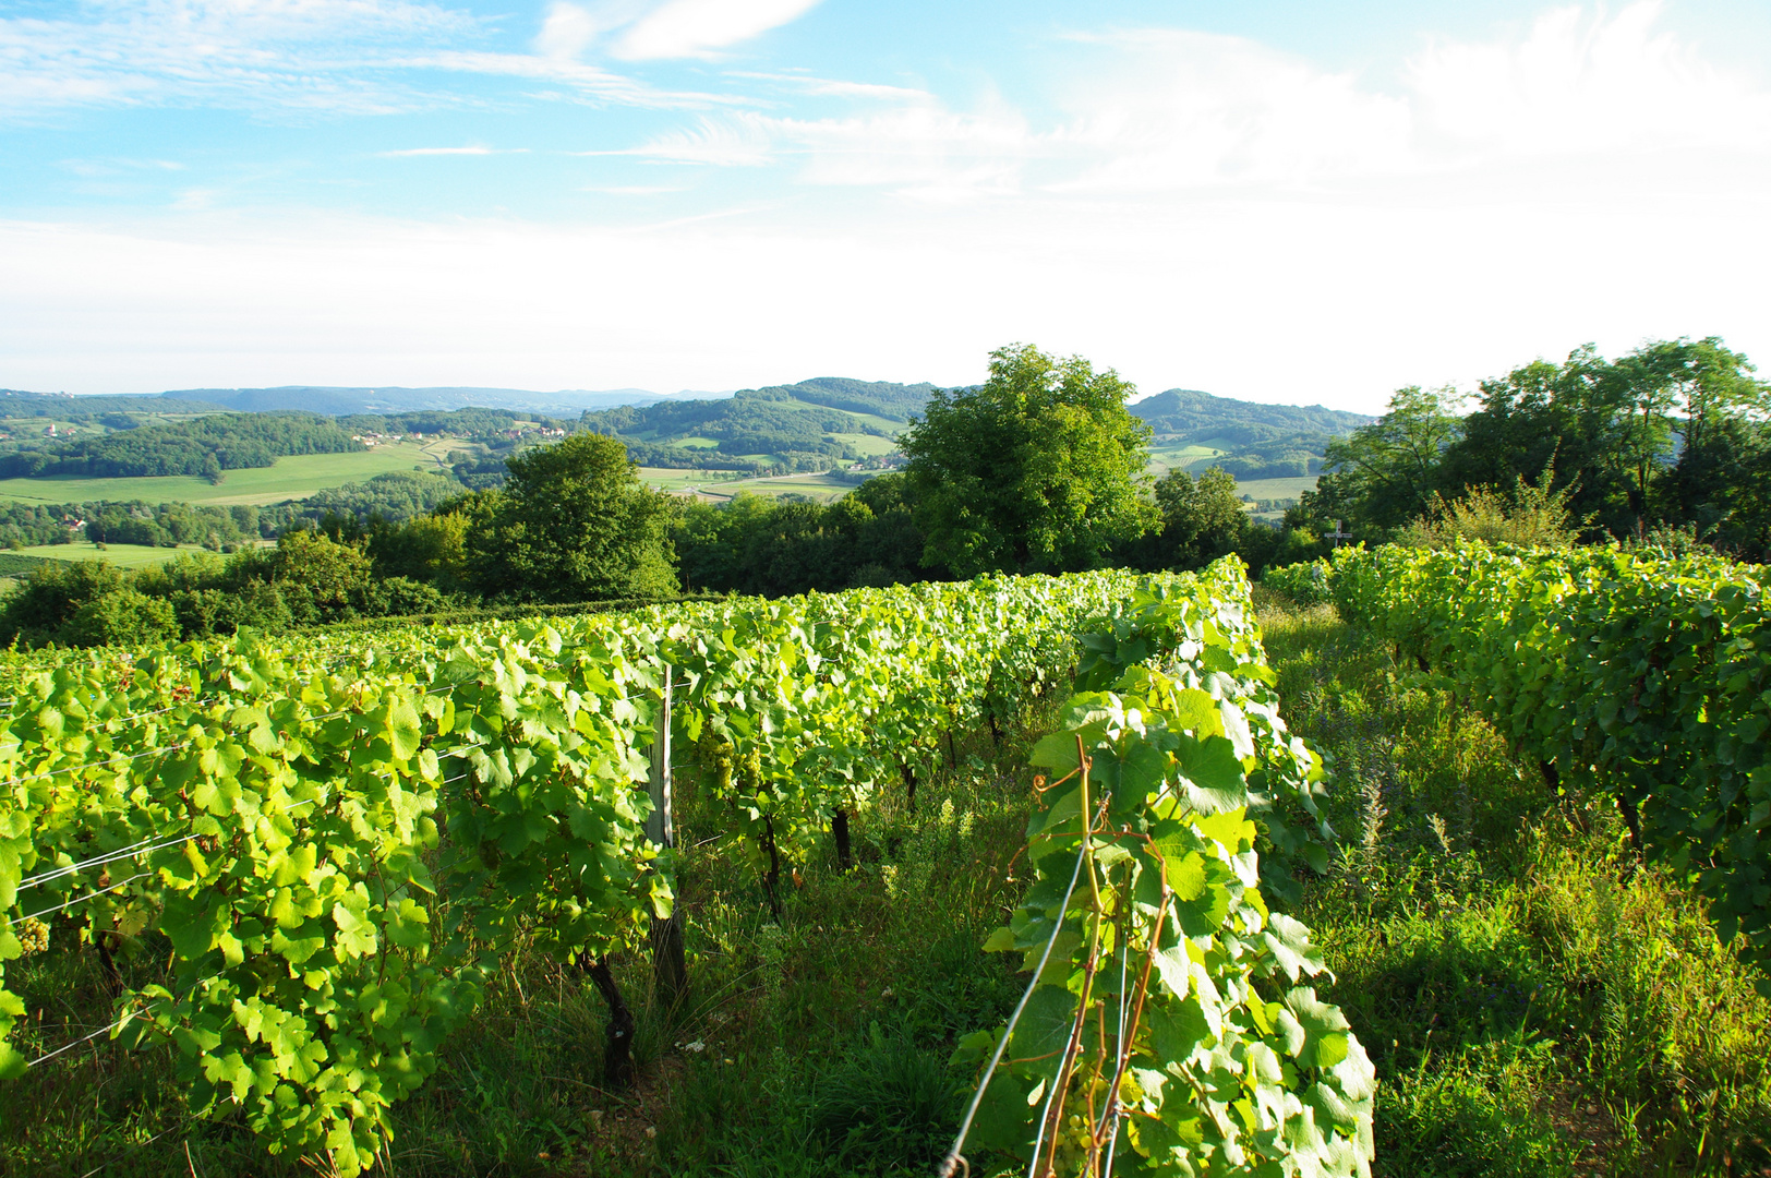
M 39 574 L 0 604 L 0 641 L 191 638 L 988 572 L 1185 570 L 1226 553 L 1259 570 L 1319 554 L 1334 523 L 1380 540 L 1472 514 L 1573 514 L 1583 539 L 1684 526 L 1748 553 L 1771 535 L 1766 386 L 1718 340 L 1652 344 L 1619 361 L 1592 349 L 1537 361 L 1484 383 L 1466 416 L 1449 393 L 1401 390 L 1385 416 L 1332 445 L 1319 489 L 1279 528 L 1252 517 L 1220 468 L 1151 480 L 1151 429 L 1126 409 L 1132 391 L 1080 356 L 999 349 L 981 386 L 930 393 L 901 439 L 901 471 L 829 505 L 662 494 L 639 482 L 620 439 L 583 430 L 512 455 L 501 485 L 453 492 L 446 478 L 398 477 L 386 496 L 404 498 L 390 510 L 317 498 L 269 551 L 138 574 Z M 436 485 L 414 494 L 404 484 L 418 478 Z M 1543 535 L 1560 537 L 1558 526 Z

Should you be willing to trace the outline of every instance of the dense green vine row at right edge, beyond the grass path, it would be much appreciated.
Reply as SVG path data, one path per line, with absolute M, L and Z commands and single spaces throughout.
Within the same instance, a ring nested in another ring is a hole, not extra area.
M 1771 960 L 1771 661 L 1757 569 L 1720 556 L 1348 549 L 1342 613 L 1443 677 L 1550 788 L 1592 779 L 1635 849 Z M 1760 983 L 1771 994 L 1771 983 Z

